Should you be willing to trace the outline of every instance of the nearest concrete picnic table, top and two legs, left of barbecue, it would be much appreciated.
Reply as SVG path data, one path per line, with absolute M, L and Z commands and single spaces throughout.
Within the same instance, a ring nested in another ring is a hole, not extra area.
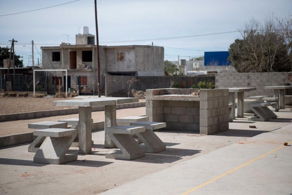
M 78 106 L 79 108 L 79 154 L 91 153 L 91 107 L 105 106 L 105 127 L 117 125 L 116 106 L 123 103 L 139 102 L 138 98 L 101 97 L 92 99 L 71 99 L 53 101 L 53 106 Z M 115 144 L 105 134 L 105 147 Z

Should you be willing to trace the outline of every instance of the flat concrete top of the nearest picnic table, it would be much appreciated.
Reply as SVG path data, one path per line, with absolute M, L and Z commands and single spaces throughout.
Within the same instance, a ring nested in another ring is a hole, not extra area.
M 53 101 L 53 106 L 78 106 L 78 107 L 93 107 L 93 106 L 108 106 L 122 103 L 139 102 L 138 98 L 123 98 L 123 97 L 102 97 L 93 99 L 70 99 Z

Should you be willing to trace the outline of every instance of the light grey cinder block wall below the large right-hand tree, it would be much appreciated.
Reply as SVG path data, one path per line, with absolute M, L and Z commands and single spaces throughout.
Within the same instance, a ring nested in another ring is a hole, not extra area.
M 256 95 L 273 96 L 272 89 L 264 89 L 265 86 L 280 85 L 288 82 L 291 73 L 216 73 L 216 88 L 228 87 L 256 87 L 256 91 L 245 92 L 244 98 Z

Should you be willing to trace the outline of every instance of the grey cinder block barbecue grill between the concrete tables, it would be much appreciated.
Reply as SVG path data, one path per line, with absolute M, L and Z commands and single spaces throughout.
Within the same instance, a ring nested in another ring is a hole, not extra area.
M 214 134 L 229 128 L 228 101 L 228 89 L 147 89 L 146 115 L 168 130 Z

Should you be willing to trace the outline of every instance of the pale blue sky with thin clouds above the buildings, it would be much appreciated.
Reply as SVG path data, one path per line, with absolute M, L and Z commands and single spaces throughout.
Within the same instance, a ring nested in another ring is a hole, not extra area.
M 0 0 L 0 15 L 68 3 L 74 0 Z M 164 46 L 164 60 L 177 61 L 204 55 L 204 51 L 227 51 L 239 32 L 178 39 L 160 39 L 244 29 L 253 17 L 263 21 L 269 14 L 283 18 L 292 14 L 292 0 L 97 0 L 100 45 Z M 75 44 L 82 26 L 95 33 L 94 0 L 79 0 L 48 9 L 0 16 L 0 46 L 11 45 L 28 65 L 34 41 L 34 63 L 41 46 Z M 149 39 L 139 41 L 142 39 Z M 155 39 L 155 40 L 153 40 Z M 160 39 L 160 40 L 157 40 Z M 121 42 L 124 41 L 124 42 Z M 179 49 L 178 49 L 179 48 Z M 39 59 L 41 60 L 41 59 Z M 40 62 L 41 63 L 41 62 Z M 31 60 L 30 60 L 31 64 Z

